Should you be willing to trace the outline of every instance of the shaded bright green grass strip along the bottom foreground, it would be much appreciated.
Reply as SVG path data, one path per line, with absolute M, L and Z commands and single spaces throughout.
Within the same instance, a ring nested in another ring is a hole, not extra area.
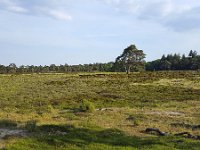
M 200 143 L 178 137 L 140 138 L 118 129 L 40 126 L 38 134 L 21 139 L 7 149 L 199 149 Z M 58 131 L 66 135 L 56 135 Z

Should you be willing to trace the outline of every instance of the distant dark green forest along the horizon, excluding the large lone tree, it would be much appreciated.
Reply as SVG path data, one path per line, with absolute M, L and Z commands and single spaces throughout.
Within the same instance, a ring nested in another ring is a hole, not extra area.
M 199 70 L 200 55 L 196 51 L 191 50 L 188 56 L 183 54 L 168 54 L 162 58 L 146 62 L 145 66 L 133 68 L 131 71 L 160 71 L 160 70 Z M 123 66 L 117 65 L 116 62 L 109 63 L 93 63 L 84 65 L 55 65 L 50 66 L 19 66 L 11 63 L 9 66 L 0 65 L 1 74 L 12 73 L 74 73 L 74 72 L 124 72 Z

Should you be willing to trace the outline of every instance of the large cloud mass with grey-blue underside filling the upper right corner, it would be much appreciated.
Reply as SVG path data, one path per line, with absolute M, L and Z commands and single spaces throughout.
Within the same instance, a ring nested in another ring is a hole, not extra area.
M 99 0 L 100 1 L 100 0 Z M 152 21 L 177 32 L 200 29 L 200 1 L 197 0 L 104 0 L 119 13 Z

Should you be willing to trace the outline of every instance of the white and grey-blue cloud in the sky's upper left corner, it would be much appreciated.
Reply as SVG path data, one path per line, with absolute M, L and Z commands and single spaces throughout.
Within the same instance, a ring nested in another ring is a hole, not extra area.
M 0 9 L 27 15 L 48 16 L 57 20 L 72 20 L 72 16 L 55 0 L 0 0 Z

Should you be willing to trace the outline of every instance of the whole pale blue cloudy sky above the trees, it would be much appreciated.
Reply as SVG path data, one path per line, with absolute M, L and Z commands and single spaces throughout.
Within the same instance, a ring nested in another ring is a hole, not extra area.
M 146 61 L 200 52 L 200 0 L 0 0 L 0 64 Z

